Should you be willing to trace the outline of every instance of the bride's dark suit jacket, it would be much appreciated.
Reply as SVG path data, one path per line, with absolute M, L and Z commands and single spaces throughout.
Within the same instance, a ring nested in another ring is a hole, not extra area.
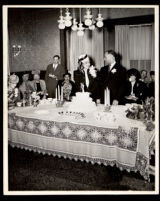
M 74 71 L 73 76 L 74 76 L 74 81 L 76 85 L 76 91 L 80 92 L 82 91 L 81 89 L 81 83 L 84 84 L 84 91 L 90 92 L 90 96 L 93 99 L 93 101 L 96 101 L 96 99 L 100 98 L 99 95 L 99 86 L 98 86 L 98 79 L 92 77 L 91 74 L 89 74 L 89 70 L 87 71 L 88 73 L 88 79 L 89 79 L 89 86 L 86 86 L 85 83 L 85 73 L 80 71 L 79 69 Z

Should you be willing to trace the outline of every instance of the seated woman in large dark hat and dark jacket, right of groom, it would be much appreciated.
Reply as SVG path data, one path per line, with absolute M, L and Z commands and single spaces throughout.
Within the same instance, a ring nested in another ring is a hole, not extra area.
M 128 81 L 126 82 L 124 103 L 138 103 L 142 102 L 147 97 L 147 86 L 140 81 L 140 73 L 138 70 L 132 68 L 127 71 Z

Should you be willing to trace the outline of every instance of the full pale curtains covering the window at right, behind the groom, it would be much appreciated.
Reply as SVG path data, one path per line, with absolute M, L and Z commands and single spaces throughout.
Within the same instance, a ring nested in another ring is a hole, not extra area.
M 154 69 L 153 24 L 115 26 L 115 50 L 127 69 Z

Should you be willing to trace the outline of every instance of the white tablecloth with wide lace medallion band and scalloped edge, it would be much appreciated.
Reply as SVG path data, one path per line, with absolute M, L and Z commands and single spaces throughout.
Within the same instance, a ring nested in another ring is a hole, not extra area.
M 121 170 L 139 171 L 149 179 L 149 149 L 154 131 L 142 122 L 125 117 L 126 106 L 103 105 L 92 113 L 73 113 L 68 105 L 15 108 L 9 111 L 9 144 L 39 153 L 116 165 Z

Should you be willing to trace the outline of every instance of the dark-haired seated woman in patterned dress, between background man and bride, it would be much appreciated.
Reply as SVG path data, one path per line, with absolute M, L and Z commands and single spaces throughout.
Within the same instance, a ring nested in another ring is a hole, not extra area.
M 63 86 L 63 98 L 66 101 L 70 101 L 72 96 L 75 96 L 76 86 L 75 83 L 71 80 L 71 74 L 65 73 L 63 75 L 63 80 L 58 81 L 58 86 Z

